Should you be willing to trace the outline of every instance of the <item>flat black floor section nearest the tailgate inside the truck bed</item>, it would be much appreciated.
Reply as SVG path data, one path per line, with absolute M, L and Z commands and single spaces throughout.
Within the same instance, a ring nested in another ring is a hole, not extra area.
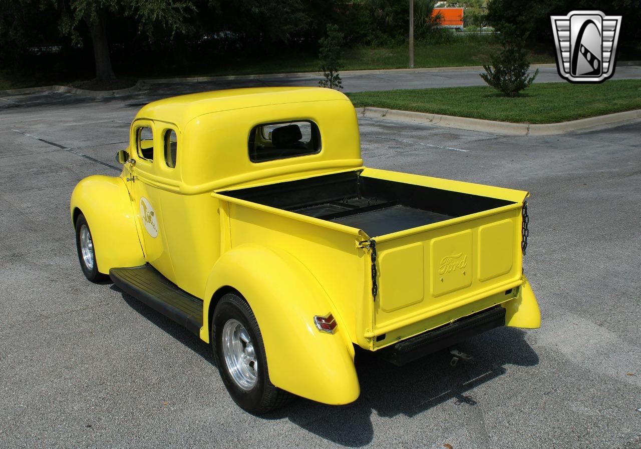
M 362 229 L 367 235 L 375 237 L 391 234 L 412 227 L 442 222 L 453 218 L 449 215 L 409 208 L 408 206 L 391 206 L 354 215 L 333 218 L 329 220 L 347 226 Z

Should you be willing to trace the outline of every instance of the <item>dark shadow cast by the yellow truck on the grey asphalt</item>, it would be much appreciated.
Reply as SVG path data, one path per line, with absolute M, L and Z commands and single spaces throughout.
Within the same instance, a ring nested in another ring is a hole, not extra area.
M 154 325 L 191 348 L 209 363 L 213 357 L 209 345 L 185 328 L 157 313 L 142 302 L 122 292 L 124 301 Z M 506 373 L 505 366 L 535 366 L 538 355 L 525 339 L 526 332 L 501 327 L 457 345 L 474 357 L 467 363 L 450 366 L 447 350 L 395 366 L 367 351 L 356 352 L 356 371 L 361 395 L 349 405 L 324 405 L 298 398 L 283 409 L 262 416 L 267 420 L 289 420 L 301 429 L 348 447 L 368 445 L 374 439 L 372 412 L 381 417 L 403 414 L 411 418 L 444 402 L 454 405 L 478 404 L 474 388 Z

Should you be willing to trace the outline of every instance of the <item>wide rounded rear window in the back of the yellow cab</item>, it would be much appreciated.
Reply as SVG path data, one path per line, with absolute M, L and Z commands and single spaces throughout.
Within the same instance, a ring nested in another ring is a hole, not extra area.
M 319 151 L 319 127 L 310 120 L 260 124 L 249 133 L 252 162 L 296 158 Z

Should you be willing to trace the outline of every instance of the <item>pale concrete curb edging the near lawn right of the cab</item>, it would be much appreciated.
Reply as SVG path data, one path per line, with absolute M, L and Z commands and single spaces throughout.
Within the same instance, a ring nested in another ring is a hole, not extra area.
M 435 126 L 468 129 L 469 131 L 483 131 L 485 133 L 504 136 L 553 136 L 595 127 L 615 126 L 622 122 L 641 118 L 641 110 L 638 109 L 550 124 L 496 122 L 494 120 L 481 120 L 479 118 L 453 117 L 451 115 L 369 107 L 357 108 L 356 112 L 361 117 L 380 118 L 398 122 L 419 122 Z

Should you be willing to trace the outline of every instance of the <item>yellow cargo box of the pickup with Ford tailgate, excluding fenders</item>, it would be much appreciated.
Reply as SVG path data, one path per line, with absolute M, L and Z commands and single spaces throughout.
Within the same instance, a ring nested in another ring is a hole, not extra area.
M 365 349 L 490 309 L 523 282 L 528 192 L 354 168 L 212 195 L 228 203 L 221 244 L 294 256 Z

